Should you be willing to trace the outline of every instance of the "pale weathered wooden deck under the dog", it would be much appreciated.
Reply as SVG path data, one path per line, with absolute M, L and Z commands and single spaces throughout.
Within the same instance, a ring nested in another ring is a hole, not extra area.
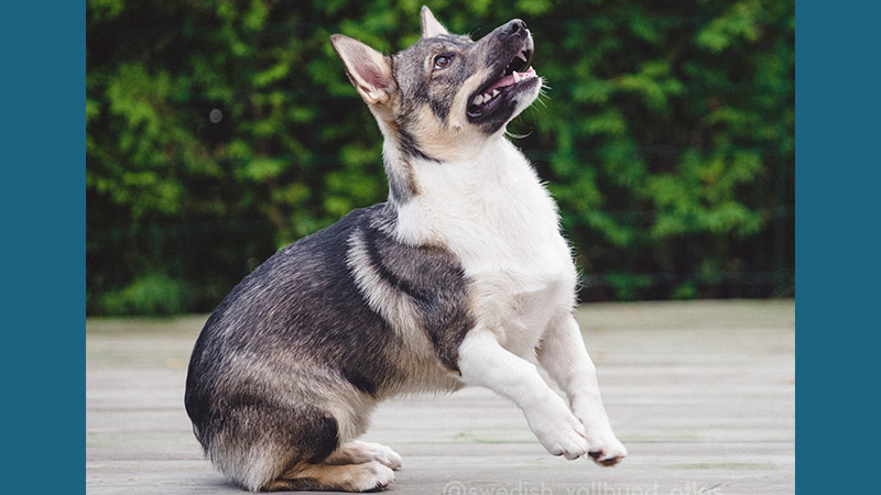
M 578 317 L 630 450 L 621 465 L 551 457 L 516 407 L 466 389 L 378 409 L 366 439 L 404 458 L 388 493 L 795 493 L 794 301 L 588 305 Z M 203 458 L 183 407 L 204 321 L 87 321 L 87 493 L 244 493 Z

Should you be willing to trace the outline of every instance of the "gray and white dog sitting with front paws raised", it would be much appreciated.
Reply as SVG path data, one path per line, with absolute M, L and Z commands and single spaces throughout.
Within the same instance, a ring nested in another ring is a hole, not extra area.
M 389 200 L 275 253 L 205 323 L 185 403 L 207 457 L 254 492 L 379 491 L 401 457 L 357 440 L 377 404 L 478 385 L 552 454 L 619 462 L 556 205 L 504 136 L 542 87 L 525 23 L 475 42 L 423 8 L 401 53 L 330 42 L 382 131 Z

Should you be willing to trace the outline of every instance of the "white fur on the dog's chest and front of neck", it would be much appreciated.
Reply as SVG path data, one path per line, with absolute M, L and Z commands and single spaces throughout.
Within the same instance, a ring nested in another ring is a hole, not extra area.
M 478 324 L 531 354 L 551 318 L 575 302 L 575 266 L 547 190 L 502 136 L 474 160 L 413 167 L 420 194 L 399 210 L 399 239 L 457 255 Z

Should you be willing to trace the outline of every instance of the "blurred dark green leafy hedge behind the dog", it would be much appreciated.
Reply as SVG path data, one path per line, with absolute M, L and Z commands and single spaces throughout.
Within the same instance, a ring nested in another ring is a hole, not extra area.
M 794 0 L 87 0 L 88 316 L 208 312 L 388 195 L 334 55 L 421 6 L 521 18 L 546 96 L 508 130 L 559 204 L 581 301 L 794 297 Z

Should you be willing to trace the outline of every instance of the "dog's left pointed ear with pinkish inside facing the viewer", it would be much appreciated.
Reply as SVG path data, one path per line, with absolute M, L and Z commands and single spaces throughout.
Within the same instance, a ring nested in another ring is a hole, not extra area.
M 355 89 L 368 105 L 384 105 L 398 85 L 394 82 L 391 59 L 366 44 L 341 34 L 330 36 L 330 44 L 349 76 Z

